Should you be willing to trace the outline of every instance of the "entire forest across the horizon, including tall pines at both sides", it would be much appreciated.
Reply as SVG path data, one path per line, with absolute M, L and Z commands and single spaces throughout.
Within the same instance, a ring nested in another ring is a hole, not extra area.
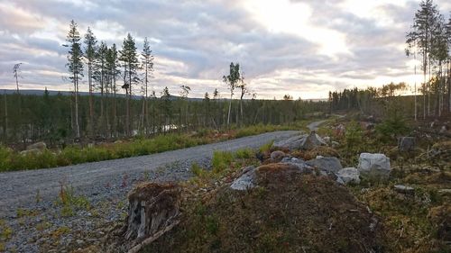
M 51 145 L 68 140 L 116 140 L 167 131 L 287 124 L 314 112 L 381 114 L 393 106 L 415 120 L 451 112 L 451 17 L 446 22 L 432 0 L 421 1 L 406 44 L 406 55 L 420 59 L 419 73 L 423 74 L 423 82 L 413 85 L 410 97 L 398 98 L 409 89 L 407 84 L 391 83 L 329 92 L 325 102 L 293 100 L 288 94 L 281 101 L 258 100 L 249 91 L 241 66 L 232 62 L 229 73 L 222 77 L 229 90 L 226 95 L 215 90 L 192 100 L 191 88 L 183 84 L 178 91 L 150 88 L 154 57 L 147 38 L 138 51 L 129 33 L 117 49 L 115 44 L 97 41 L 90 28 L 81 36 L 72 21 L 64 45 L 72 92 L 23 95 L 18 81 L 20 64 L 15 65 L 17 91 L 0 95 L 0 140 L 23 145 L 37 140 Z M 417 66 L 412 72 L 417 74 Z M 87 79 L 87 95 L 78 92 L 83 78 Z M 120 89 L 125 95 L 118 94 Z M 244 99 L 246 95 L 251 99 Z M 393 105 L 395 102 L 402 105 Z

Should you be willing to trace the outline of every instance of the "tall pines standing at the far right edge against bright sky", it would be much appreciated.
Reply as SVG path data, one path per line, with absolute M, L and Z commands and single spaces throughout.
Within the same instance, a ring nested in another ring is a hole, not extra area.
M 451 112 L 451 14 L 446 21 L 432 0 L 422 0 L 413 24 L 406 35 L 409 57 L 421 59 L 423 83 L 417 89 L 422 94 L 422 105 L 415 95 L 415 119 L 422 107 L 423 119 Z M 415 66 L 415 74 L 417 67 Z M 446 104 L 447 98 L 447 104 Z

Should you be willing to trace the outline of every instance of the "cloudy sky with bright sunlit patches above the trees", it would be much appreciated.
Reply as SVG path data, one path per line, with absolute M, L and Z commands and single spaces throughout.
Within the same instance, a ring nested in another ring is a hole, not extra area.
M 451 1 L 435 4 L 448 18 Z M 0 89 L 70 90 L 69 23 L 111 46 L 130 32 L 154 55 L 152 89 L 228 96 L 222 77 L 239 62 L 257 98 L 325 98 L 328 91 L 413 85 L 404 52 L 418 1 L 409 0 L 0 0 Z M 417 77 L 419 79 L 419 77 Z M 80 90 L 87 91 L 87 77 Z

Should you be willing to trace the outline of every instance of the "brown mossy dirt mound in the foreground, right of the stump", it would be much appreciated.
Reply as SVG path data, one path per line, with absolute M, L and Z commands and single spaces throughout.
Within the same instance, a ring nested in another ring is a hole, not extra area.
M 266 165 L 246 191 L 221 186 L 143 252 L 382 252 L 377 217 L 344 186 Z

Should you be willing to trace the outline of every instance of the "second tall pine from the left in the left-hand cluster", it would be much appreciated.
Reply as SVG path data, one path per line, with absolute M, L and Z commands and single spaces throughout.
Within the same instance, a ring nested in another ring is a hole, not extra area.
M 97 39 L 94 33 L 89 27 L 87 27 L 87 33 L 85 35 L 85 58 L 87 59 L 87 85 L 89 88 L 89 135 L 94 135 L 94 104 L 93 104 L 93 91 L 92 84 L 93 65 L 96 59 L 97 51 Z

